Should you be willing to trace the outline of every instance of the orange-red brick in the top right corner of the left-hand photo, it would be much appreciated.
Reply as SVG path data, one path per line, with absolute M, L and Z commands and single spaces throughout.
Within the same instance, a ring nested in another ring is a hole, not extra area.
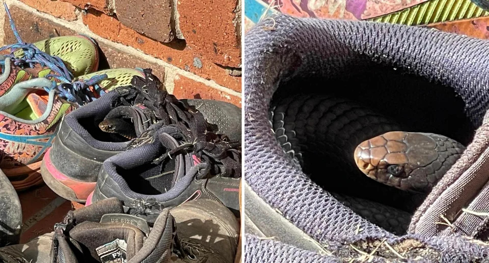
M 241 45 L 238 1 L 178 1 L 180 30 L 187 44 L 202 56 L 227 67 L 240 67 Z

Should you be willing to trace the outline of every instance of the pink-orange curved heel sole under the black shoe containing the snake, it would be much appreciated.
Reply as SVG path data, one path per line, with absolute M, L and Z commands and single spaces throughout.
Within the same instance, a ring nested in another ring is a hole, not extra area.
M 86 202 L 95 189 L 96 182 L 82 182 L 69 178 L 60 172 L 51 162 L 49 148 L 41 163 L 41 175 L 46 185 L 59 196 L 75 202 Z

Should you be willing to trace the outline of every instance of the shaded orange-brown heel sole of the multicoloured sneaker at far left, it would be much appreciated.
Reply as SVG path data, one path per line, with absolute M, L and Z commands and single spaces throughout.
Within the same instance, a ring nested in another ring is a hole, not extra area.
M 9 178 L 15 191 L 24 191 L 44 183 L 39 171 L 40 166 L 41 161 L 38 161 L 17 168 L 2 168 L 2 171 Z

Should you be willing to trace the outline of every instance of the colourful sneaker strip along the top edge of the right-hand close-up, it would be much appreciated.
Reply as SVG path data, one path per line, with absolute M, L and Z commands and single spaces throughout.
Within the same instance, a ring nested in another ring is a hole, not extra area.
M 489 39 L 489 12 L 472 0 L 246 0 L 244 32 L 280 12 L 296 17 L 373 20 L 427 25 L 442 31 Z M 273 10 L 273 11 L 271 11 Z M 264 14 L 265 11 L 267 14 Z

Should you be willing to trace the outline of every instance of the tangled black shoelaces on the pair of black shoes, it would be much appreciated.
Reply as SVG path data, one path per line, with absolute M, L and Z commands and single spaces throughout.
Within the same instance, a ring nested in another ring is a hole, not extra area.
M 117 104 L 143 104 L 154 114 L 151 119 L 156 119 L 157 122 L 139 138 L 134 139 L 129 148 L 158 139 L 155 138 L 156 131 L 163 126 L 171 126 L 178 130 L 177 134 L 171 135 L 177 136 L 176 138 L 183 143 L 156 158 L 154 163 L 159 164 L 182 152 L 192 152 L 209 164 L 206 174 L 221 173 L 223 177 L 240 178 L 240 143 L 230 141 L 226 135 L 216 134 L 216 130 L 206 122 L 204 115 L 188 108 L 175 96 L 169 94 L 160 80 L 151 73 L 151 69 L 145 69 L 144 73 L 144 78 L 133 77 L 132 87 L 119 90 L 123 96 Z

